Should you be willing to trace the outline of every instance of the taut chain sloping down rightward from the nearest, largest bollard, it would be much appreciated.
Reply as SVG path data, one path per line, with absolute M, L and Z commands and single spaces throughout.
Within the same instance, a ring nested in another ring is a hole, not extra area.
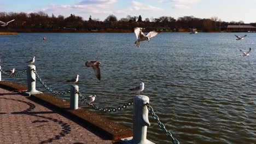
M 158 126 L 165 131 L 165 135 L 170 137 L 171 141 L 173 144 L 179 144 L 179 141 L 177 139 L 174 139 L 174 137 L 172 137 L 172 134 L 170 131 L 168 131 L 166 128 L 165 128 L 165 125 L 163 123 L 160 122 L 160 119 L 159 117 L 155 114 L 152 106 L 149 105 L 149 103 L 146 104 L 147 107 L 148 107 L 148 111 L 152 114 L 152 117 L 156 120 L 156 122 L 158 122 Z

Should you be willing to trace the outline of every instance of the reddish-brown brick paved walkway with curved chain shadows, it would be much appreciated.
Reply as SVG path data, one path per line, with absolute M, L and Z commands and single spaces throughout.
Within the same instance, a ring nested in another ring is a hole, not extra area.
M 0 88 L 0 143 L 113 143 L 59 112 Z

